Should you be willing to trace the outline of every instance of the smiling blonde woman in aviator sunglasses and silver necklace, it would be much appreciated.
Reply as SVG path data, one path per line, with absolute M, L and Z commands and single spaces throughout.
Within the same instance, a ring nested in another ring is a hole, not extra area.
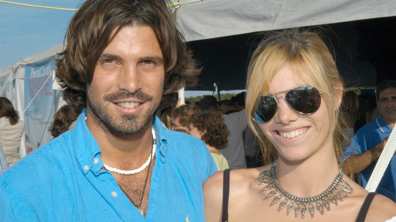
M 224 173 L 208 178 L 207 221 L 362 221 L 357 215 L 369 193 L 339 163 L 342 92 L 336 63 L 317 34 L 291 29 L 262 41 L 248 68 L 246 110 L 268 165 L 230 171 L 224 203 Z M 396 215 L 396 204 L 381 195 L 365 206 L 366 221 Z

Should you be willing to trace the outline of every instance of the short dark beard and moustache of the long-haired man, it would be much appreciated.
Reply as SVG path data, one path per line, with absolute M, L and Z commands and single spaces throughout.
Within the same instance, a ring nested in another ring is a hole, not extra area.
M 92 95 L 93 98 L 99 98 L 98 96 Z M 98 126 L 105 127 L 108 131 L 113 134 L 122 135 L 136 135 L 139 134 L 148 124 L 151 124 L 152 117 L 155 110 L 157 109 L 161 98 L 153 98 L 148 94 L 141 91 L 135 93 L 118 92 L 113 94 L 106 94 L 103 97 L 103 101 L 114 101 L 124 99 L 139 99 L 144 101 L 148 108 L 141 114 L 130 114 L 130 115 L 114 115 L 104 103 L 100 100 L 91 99 L 87 94 L 87 103 L 89 108 L 92 110 L 93 120 Z

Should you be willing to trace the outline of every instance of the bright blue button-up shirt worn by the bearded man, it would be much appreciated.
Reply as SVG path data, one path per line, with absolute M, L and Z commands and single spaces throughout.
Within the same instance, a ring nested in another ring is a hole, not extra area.
M 27 155 L 0 175 L 0 221 L 204 221 L 202 184 L 216 171 L 205 144 L 153 121 L 157 136 L 146 218 L 102 169 L 85 124 Z

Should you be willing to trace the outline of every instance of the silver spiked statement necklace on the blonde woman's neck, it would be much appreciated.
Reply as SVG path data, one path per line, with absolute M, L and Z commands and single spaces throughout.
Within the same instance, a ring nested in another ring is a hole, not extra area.
M 276 174 L 277 162 L 278 160 L 271 164 L 271 170 L 265 170 L 258 174 L 256 181 L 259 181 L 259 185 L 265 185 L 265 187 L 261 189 L 262 191 L 270 191 L 267 198 L 274 197 L 271 203 L 272 205 L 280 202 L 279 210 L 286 207 L 287 215 L 289 215 L 291 211 L 294 211 L 295 217 L 297 217 L 301 212 L 302 218 L 304 218 L 308 211 L 311 216 L 314 217 L 316 209 L 323 214 L 324 208 L 331 210 L 329 203 L 338 205 L 337 199 L 344 201 L 343 198 L 349 197 L 348 193 L 353 192 L 353 188 L 350 184 L 342 178 L 344 171 L 342 170 L 342 166 L 339 165 L 340 172 L 325 191 L 313 197 L 294 196 L 285 191 L 285 189 L 283 189 L 279 184 L 278 176 Z

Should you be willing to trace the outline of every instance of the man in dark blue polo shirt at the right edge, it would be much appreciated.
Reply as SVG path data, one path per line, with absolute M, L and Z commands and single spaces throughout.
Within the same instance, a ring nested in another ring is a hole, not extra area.
M 343 162 L 347 175 L 360 173 L 362 187 L 366 187 L 396 123 L 396 81 L 390 80 L 378 84 L 376 98 L 381 115 L 356 132 L 351 139 L 351 146 L 348 146 L 345 152 L 348 158 Z M 393 155 L 376 192 L 395 201 L 395 191 L 396 156 Z

